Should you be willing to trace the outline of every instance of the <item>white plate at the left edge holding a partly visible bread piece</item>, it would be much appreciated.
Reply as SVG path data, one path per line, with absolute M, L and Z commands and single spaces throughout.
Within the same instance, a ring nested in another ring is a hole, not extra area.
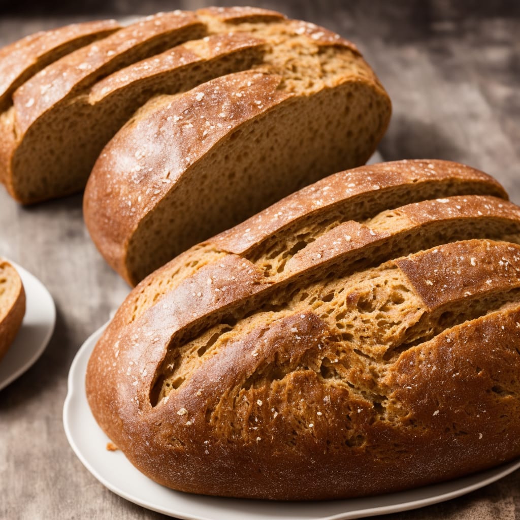
M 7 354 L 0 361 L 0 390 L 28 370 L 43 354 L 56 322 L 53 297 L 45 285 L 23 267 L 11 262 L 25 290 L 25 316 Z

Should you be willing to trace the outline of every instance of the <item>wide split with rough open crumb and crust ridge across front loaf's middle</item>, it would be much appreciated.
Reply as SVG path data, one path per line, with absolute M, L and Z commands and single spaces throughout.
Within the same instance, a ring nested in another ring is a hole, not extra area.
M 231 321 L 224 329 L 222 325 L 210 328 L 200 338 L 196 333 L 196 339 L 187 344 L 183 343 L 186 334 L 181 335 L 180 340 L 172 338 L 162 365 L 156 369 L 156 373 L 161 374 L 162 387 L 154 392 L 152 405 L 160 403 L 188 381 L 193 370 L 204 367 L 216 352 L 226 348 L 229 338 L 245 335 L 261 324 L 284 316 L 305 313 L 306 309 L 312 309 L 327 323 L 330 335 L 336 341 L 346 343 L 354 357 L 357 354 L 361 361 L 367 360 L 363 370 L 370 373 L 375 370 L 372 365 L 393 359 L 393 352 L 401 352 L 402 345 L 424 342 L 444 328 L 518 299 L 518 258 L 518 246 L 474 240 L 449 247 L 439 246 L 390 261 L 363 272 L 362 276 L 342 278 L 340 275 L 328 283 L 301 281 L 297 290 L 291 288 L 292 294 L 284 293 L 283 288 L 276 292 L 276 287 L 265 285 L 264 298 L 260 300 L 258 293 L 254 298 L 255 312 L 251 316 L 241 319 L 248 313 L 244 313 L 243 306 L 241 309 L 237 305 L 232 313 L 236 323 Z M 425 272 L 430 273 L 428 278 L 425 278 Z M 463 272 L 463 275 L 457 275 L 457 272 Z M 448 286 L 453 275 L 456 279 Z M 437 291 L 436 299 L 425 300 L 421 295 L 427 295 L 427 289 L 432 287 Z M 269 303 L 262 305 L 262 301 Z M 274 302 L 284 303 L 273 310 Z M 252 303 L 249 308 L 251 306 Z M 206 319 L 211 321 L 208 315 Z M 333 355 L 335 362 L 338 356 Z M 336 379 L 341 375 L 348 380 L 349 372 L 338 372 L 341 364 L 333 365 L 329 358 L 326 365 L 320 368 L 318 363 L 318 371 Z

